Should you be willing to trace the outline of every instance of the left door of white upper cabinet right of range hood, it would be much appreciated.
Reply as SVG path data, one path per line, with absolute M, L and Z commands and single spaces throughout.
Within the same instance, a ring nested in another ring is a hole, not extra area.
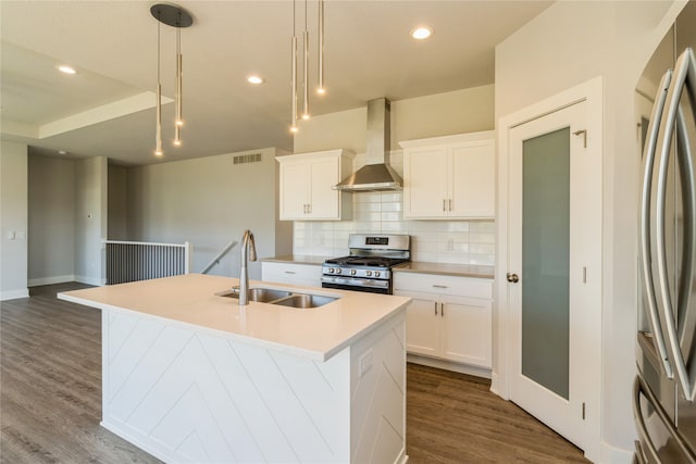
M 447 204 L 447 150 L 413 148 L 403 156 L 403 217 L 443 217 Z

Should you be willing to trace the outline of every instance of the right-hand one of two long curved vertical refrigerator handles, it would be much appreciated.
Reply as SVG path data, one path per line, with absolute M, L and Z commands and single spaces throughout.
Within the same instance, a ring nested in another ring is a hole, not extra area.
M 667 329 L 669 350 L 671 354 L 671 361 L 674 369 L 676 371 L 676 377 L 679 379 L 680 388 L 684 393 L 684 398 L 688 401 L 694 401 L 696 396 L 696 383 L 692 381 L 689 373 L 682 354 L 679 336 L 676 333 L 676 324 L 674 318 L 674 308 L 672 305 L 672 298 L 669 289 L 669 276 L 667 268 L 666 256 L 666 229 L 664 229 L 664 214 L 666 214 L 666 200 L 667 200 L 667 176 L 668 165 L 670 156 L 670 147 L 672 145 L 672 134 L 678 126 L 678 130 L 683 130 L 684 123 L 680 116 L 680 98 L 682 91 L 685 88 L 685 84 L 688 77 L 691 84 L 696 79 L 694 75 L 694 52 L 692 49 L 686 49 L 676 61 L 674 77 L 670 84 L 667 96 L 666 114 L 660 122 L 660 136 L 658 147 L 660 149 L 660 166 L 658 172 L 658 198 L 657 198 L 657 259 L 658 259 L 658 276 L 660 284 L 660 293 L 662 297 L 662 314 L 661 323 Z M 680 121 L 678 121 L 680 120 Z M 683 171 L 683 170 L 682 170 Z M 692 176 L 693 173 L 685 173 L 687 176 Z M 693 185 L 688 184 L 684 186 L 684 189 L 693 188 Z M 685 198 L 689 198 L 693 192 L 684 192 Z M 694 206 L 693 204 L 691 205 Z M 694 211 L 688 211 L 687 214 L 694 215 Z M 688 242 L 687 242 L 688 243 Z M 686 251 L 686 250 L 685 250 Z M 689 265 L 691 267 L 691 265 Z M 691 285 L 691 283 L 689 283 Z

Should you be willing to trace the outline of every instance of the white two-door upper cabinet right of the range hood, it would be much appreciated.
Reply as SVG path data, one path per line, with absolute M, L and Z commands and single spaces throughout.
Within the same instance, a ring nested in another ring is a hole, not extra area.
M 495 216 L 493 130 L 399 142 L 403 148 L 403 217 Z

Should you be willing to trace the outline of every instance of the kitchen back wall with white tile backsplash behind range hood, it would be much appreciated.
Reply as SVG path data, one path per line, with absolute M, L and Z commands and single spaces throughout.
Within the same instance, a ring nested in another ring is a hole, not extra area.
M 399 141 L 494 127 L 494 86 L 482 86 L 391 102 L 390 164 L 403 175 Z M 324 114 L 300 123 L 295 152 L 345 148 L 359 153 L 353 171 L 365 163 L 366 106 Z M 350 221 L 295 222 L 294 252 L 319 256 L 348 253 L 351 233 L 409 234 L 412 259 L 493 265 L 493 221 L 405 221 L 400 192 L 356 192 Z M 449 244 L 452 244 L 449 247 Z

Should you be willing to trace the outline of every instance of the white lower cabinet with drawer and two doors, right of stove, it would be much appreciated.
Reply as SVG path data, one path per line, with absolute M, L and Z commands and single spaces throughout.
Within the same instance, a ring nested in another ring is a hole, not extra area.
M 408 352 L 492 367 L 493 280 L 395 273 L 394 293 L 412 299 L 406 316 Z

